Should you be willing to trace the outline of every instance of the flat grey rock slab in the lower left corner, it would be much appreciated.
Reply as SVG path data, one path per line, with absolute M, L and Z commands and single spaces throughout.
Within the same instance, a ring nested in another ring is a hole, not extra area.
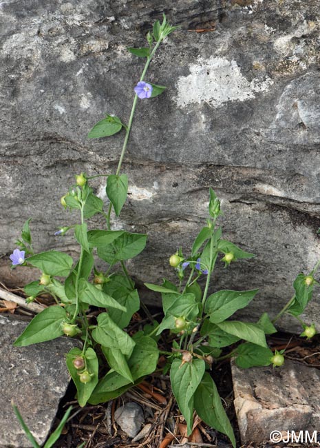
M 74 340 L 58 338 L 28 347 L 13 347 L 25 326 L 21 318 L 0 316 L 1 448 L 32 447 L 14 415 L 12 400 L 42 445 L 70 381 L 64 355 L 75 346 Z

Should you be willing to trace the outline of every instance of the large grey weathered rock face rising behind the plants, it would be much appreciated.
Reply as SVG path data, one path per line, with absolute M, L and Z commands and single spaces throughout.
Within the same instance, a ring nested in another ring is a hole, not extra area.
M 139 102 L 123 166 L 130 194 L 116 227 L 149 234 L 128 269 L 141 283 L 172 277 L 168 258 L 191 247 L 211 186 L 222 198 L 224 238 L 257 254 L 228 271 L 220 263 L 215 288 L 260 287 L 241 316 L 275 315 L 295 276 L 320 256 L 318 1 L 12 0 L 0 8 L 0 255 L 12 252 L 30 216 L 37 250 L 77 250 L 72 236 L 53 236 L 76 219 L 59 198 L 74 174 L 115 172 L 123 134 L 89 140 L 87 132 L 105 112 L 128 120 L 143 63 L 125 47 L 145 45 L 165 12 L 181 29 L 147 79 L 168 89 Z M 94 187 L 106 200 L 104 182 Z M 8 282 L 7 260 L 0 277 Z M 318 329 L 319 311 L 312 304 L 305 316 Z

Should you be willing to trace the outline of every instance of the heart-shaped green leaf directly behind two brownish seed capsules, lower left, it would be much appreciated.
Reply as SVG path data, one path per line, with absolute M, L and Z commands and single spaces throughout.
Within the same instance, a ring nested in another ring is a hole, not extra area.
M 74 349 L 71 349 L 70 352 L 67 354 L 67 368 L 70 371 L 70 375 L 72 376 L 72 379 L 74 380 L 74 384 L 76 385 L 76 390 L 78 392 L 77 398 L 78 403 L 81 405 L 81 407 L 85 406 L 87 404 L 87 400 L 89 400 L 92 392 L 94 391 L 94 388 L 98 384 L 98 358 L 96 356 L 96 352 L 94 352 L 94 349 L 88 348 L 85 351 L 85 360 L 87 364 L 87 371 L 89 371 L 89 374 L 92 374 L 91 381 L 89 383 L 81 383 L 79 371 L 74 367 L 73 360 L 77 356 L 81 356 L 82 351 L 81 349 L 78 349 L 75 347 Z

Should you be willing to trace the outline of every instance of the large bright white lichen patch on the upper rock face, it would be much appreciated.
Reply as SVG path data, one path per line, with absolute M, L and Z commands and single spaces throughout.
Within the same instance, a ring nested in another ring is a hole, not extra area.
M 198 58 L 198 63 L 190 66 L 190 74 L 180 77 L 175 101 L 180 108 L 189 104 L 207 103 L 219 108 L 228 101 L 247 101 L 255 98 L 257 92 L 269 90 L 273 81 L 254 78 L 248 81 L 241 73 L 237 61 L 222 57 Z

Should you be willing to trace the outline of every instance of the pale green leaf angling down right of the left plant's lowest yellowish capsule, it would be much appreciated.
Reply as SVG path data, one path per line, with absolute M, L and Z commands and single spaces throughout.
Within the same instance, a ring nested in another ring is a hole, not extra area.
M 94 340 L 110 349 L 120 349 L 124 355 L 130 356 L 135 343 L 130 336 L 114 323 L 109 314 L 99 314 L 98 325 L 92 332 Z

